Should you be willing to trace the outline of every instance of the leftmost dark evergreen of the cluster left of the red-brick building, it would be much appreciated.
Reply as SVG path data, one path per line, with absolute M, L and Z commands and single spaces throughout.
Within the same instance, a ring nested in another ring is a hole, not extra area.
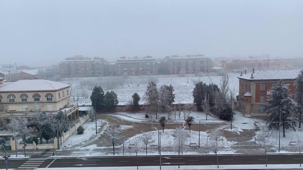
M 192 96 L 194 97 L 194 103 L 198 107 L 198 110 L 202 109 L 201 104 L 202 104 L 202 101 L 205 100 L 205 94 L 207 92 L 206 88 L 207 88 L 206 83 L 203 83 L 200 81 L 195 84 L 194 91 L 192 92 Z

